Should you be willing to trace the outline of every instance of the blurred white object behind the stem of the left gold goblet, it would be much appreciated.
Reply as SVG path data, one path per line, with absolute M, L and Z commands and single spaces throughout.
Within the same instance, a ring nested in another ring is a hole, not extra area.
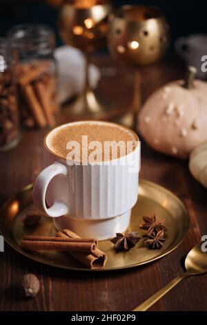
M 58 70 L 58 100 L 59 103 L 63 103 L 83 89 L 85 58 L 77 48 L 63 45 L 55 50 L 55 59 Z M 99 69 L 94 64 L 90 64 L 89 81 L 92 88 L 97 86 L 99 78 Z

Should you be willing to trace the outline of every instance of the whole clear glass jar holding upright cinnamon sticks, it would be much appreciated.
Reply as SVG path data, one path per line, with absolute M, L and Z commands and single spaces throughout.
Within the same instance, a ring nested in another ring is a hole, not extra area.
M 17 90 L 21 123 L 28 129 L 54 127 L 57 104 L 55 35 L 40 24 L 22 24 L 8 31 L 18 56 Z

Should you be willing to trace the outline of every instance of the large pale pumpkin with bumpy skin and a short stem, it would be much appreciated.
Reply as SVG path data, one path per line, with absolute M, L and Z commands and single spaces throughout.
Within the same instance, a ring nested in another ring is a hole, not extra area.
M 170 82 L 141 108 L 138 129 L 155 150 L 188 158 L 190 151 L 207 141 L 207 82 L 193 82 L 191 74 L 191 86 L 184 86 L 183 80 Z

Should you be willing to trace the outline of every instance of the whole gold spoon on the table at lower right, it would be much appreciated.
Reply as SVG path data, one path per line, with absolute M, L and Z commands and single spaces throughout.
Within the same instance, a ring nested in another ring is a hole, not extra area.
M 207 252 L 201 250 L 201 246 L 204 243 L 197 244 L 186 256 L 185 266 L 186 272 L 183 275 L 179 275 L 164 288 L 161 288 L 155 295 L 152 295 L 149 299 L 144 301 L 141 305 L 135 308 L 132 311 L 146 311 L 150 308 L 155 302 L 157 302 L 161 297 L 166 295 L 168 291 L 174 288 L 179 281 L 185 279 L 186 277 L 191 277 L 192 275 L 202 275 L 207 272 Z

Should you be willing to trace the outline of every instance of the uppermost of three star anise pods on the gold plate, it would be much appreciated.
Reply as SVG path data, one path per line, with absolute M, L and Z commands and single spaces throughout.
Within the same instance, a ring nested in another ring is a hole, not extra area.
M 148 236 L 150 236 L 150 234 L 152 234 L 152 232 L 155 232 L 157 234 L 157 232 L 159 232 L 159 230 L 164 230 L 164 232 L 168 231 L 168 228 L 166 228 L 163 225 L 164 219 L 157 219 L 155 214 L 153 214 L 152 216 L 144 215 L 143 220 L 144 220 L 144 223 L 141 223 L 139 225 L 139 228 L 147 230 Z

